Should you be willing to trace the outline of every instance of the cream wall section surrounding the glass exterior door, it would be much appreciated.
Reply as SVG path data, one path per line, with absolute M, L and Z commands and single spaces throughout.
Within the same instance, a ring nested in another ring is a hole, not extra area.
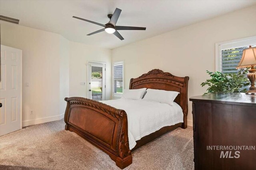
M 88 97 L 87 63 L 106 63 L 106 100 L 111 99 L 111 50 L 70 42 L 70 96 Z M 80 85 L 80 82 L 85 82 Z

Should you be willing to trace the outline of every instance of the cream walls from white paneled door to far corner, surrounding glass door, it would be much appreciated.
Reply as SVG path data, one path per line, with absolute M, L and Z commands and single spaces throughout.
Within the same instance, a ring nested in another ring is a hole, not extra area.
M 88 61 L 106 62 L 106 100 L 111 98 L 110 49 L 90 47 L 56 33 L 3 21 L 1 44 L 22 50 L 22 126 L 61 119 L 66 109 L 65 97 L 87 97 Z M 86 82 L 86 86 L 80 82 Z

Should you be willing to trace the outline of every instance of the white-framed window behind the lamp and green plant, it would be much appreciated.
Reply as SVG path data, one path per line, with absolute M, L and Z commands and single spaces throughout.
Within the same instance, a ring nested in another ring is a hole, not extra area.
M 249 45 L 256 46 L 256 36 L 216 43 L 216 71 L 238 72 L 236 66 L 242 58 L 243 50 Z

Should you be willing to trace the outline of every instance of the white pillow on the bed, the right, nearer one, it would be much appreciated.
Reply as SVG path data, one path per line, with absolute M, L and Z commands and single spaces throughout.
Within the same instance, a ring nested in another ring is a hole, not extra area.
M 173 105 L 173 101 L 178 96 L 178 94 L 179 92 L 156 90 L 156 89 L 148 88 L 147 93 L 144 96 L 143 100 L 150 100 L 150 101 Z

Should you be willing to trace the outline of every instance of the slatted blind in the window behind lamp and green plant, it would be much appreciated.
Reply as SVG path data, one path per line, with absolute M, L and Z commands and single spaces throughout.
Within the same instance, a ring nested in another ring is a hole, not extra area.
M 255 47 L 253 45 L 252 47 Z M 248 46 L 245 47 L 238 47 L 232 49 L 225 49 L 221 51 L 221 68 L 222 73 L 236 73 L 238 70 L 236 66 L 240 62 L 243 50 L 249 48 Z

